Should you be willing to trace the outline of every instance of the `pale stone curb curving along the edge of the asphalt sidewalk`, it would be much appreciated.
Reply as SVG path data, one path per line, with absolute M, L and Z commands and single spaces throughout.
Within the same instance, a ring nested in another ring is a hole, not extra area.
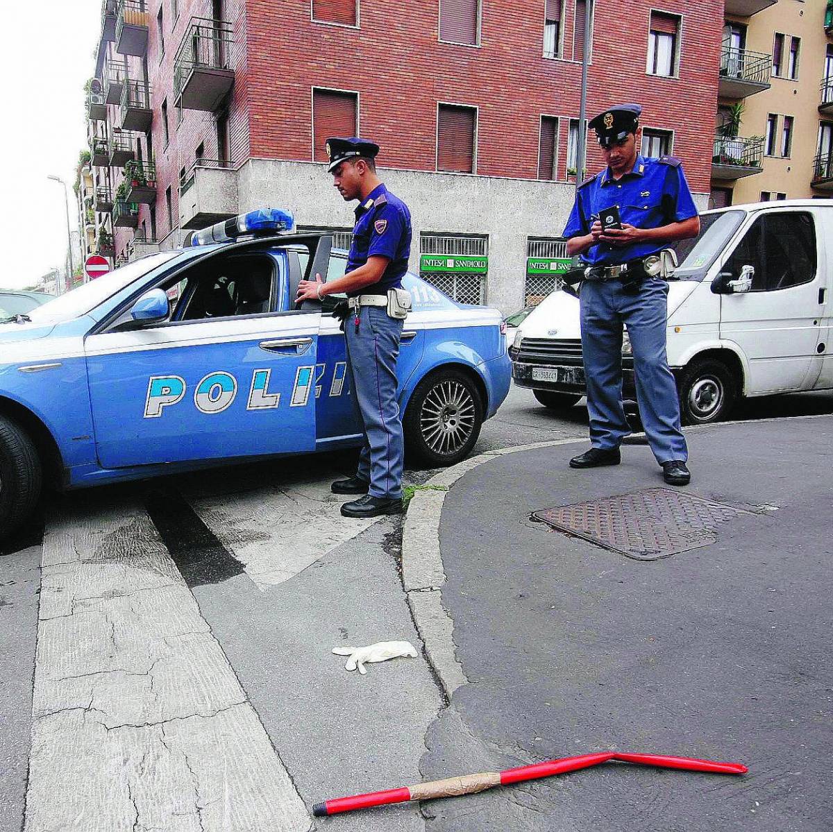
M 683 432 L 697 433 L 721 427 L 758 425 L 774 421 L 829 419 L 831 416 L 833 414 L 819 413 L 812 416 L 777 416 L 771 419 L 724 421 L 712 425 L 689 426 L 684 428 Z M 644 434 L 631 434 L 631 436 L 644 436 Z M 442 585 L 446 582 L 446 572 L 440 550 L 440 520 L 448 491 L 469 471 L 473 471 L 486 462 L 499 459 L 501 456 L 521 451 L 535 451 L 538 448 L 586 444 L 587 442 L 588 438 L 581 436 L 576 439 L 533 442 L 529 445 L 486 451 L 480 456 L 472 456 L 432 476 L 425 485 L 435 486 L 437 490 L 426 488 L 414 493 L 408 505 L 405 525 L 402 528 L 402 585 L 416 631 L 425 645 L 428 664 L 436 674 L 446 699 L 451 700 L 451 695 L 457 688 L 468 684 L 462 665 L 456 657 L 453 638 L 454 622 L 442 605 Z

